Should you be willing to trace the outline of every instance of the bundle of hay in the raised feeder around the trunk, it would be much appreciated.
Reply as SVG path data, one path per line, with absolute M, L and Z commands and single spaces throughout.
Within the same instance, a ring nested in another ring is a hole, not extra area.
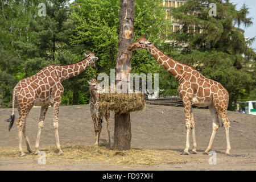
M 143 110 L 146 107 L 146 100 L 142 92 L 100 93 L 99 100 L 102 109 L 110 109 L 116 114 Z

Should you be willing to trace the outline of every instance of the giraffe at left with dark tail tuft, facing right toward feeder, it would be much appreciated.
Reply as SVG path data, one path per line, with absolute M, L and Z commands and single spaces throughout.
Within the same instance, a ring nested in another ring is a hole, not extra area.
M 10 119 L 9 131 L 14 123 L 14 105 L 18 107 L 19 118 L 17 121 L 18 134 L 19 134 L 19 152 L 20 156 L 24 156 L 22 150 L 22 133 L 26 140 L 27 150 L 32 154 L 30 142 L 26 134 L 26 118 L 33 106 L 41 106 L 41 113 L 38 123 L 38 135 L 36 138 L 36 151 L 39 152 L 40 133 L 44 126 L 44 118 L 49 105 L 53 105 L 53 127 L 55 130 L 55 139 L 58 155 L 63 154 L 60 148 L 59 133 L 58 133 L 58 118 L 61 97 L 63 96 L 63 86 L 61 82 L 68 78 L 74 77 L 85 71 L 90 65 L 96 68 L 95 61 L 98 57 L 94 56 L 94 52 L 85 54 L 85 59 L 68 65 L 51 64 L 40 70 L 38 73 L 31 77 L 20 80 L 13 90 L 13 113 Z

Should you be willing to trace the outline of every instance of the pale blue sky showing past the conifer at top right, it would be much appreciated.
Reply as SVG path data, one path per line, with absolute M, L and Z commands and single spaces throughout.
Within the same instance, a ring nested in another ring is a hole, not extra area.
M 75 0 L 71 0 L 69 2 L 73 2 Z M 245 28 L 243 25 L 240 26 L 243 30 L 245 30 L 245 36 L 248 38 L 254 38 L 256 36 L 256 1 L 255 0 L 230 0 L 233 4 L 237 4 L 237 10 L 240 10 L 243 4 L 246 4 L 249 7 L 250 14 L 248 17 L 253 18 L 253 25 L 250 27 Z M 251 45 L 256 51 L 256 40 Z

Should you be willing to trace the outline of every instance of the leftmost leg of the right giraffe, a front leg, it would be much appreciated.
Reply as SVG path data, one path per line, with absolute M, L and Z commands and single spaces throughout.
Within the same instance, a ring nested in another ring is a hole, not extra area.
M 187 99 L 183 99 L 184 105 L 184 113 L 185 113 L 185 121 L 186 121 L 186 129 L 187 129 L 187 139 L 186 139 L 186 147 L 181 155 L 188 155 L 188 148 L 189 148 L 189 132 L 191 129 L 191 102 Z

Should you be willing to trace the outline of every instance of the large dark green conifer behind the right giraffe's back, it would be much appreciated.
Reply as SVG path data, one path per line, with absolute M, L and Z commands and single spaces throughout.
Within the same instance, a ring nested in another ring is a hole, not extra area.
M 208 14 L 212 2 L 217 5 L 216 17 Z M 246 63 L 254 65 L 256 58 L 248 46 L 253 39 L 246 40 L 243 30 L 236 27 L 252 24 L 251 18 L 247 18 L 248 8 L 243 5 L 241 10 L 236 10 L 229 1 L 195 0 L 171 12 L 183 27 L 171 35 L 174 49 L 164 45 L 166 53 L 221 82 L 229 92 L 229 109 L 233 110 L 235 102 L 244 96 L 242 90 L 249 93 L 255 88 L 253 73 L 246 69 Z

